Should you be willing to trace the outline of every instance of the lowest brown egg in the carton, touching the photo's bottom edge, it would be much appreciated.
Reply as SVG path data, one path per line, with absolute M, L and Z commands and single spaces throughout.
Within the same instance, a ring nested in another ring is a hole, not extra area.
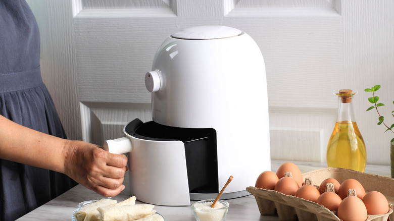
M 338 207 L 338 217 L 343 221 L 364 221 L 368 218 L 367 208 L 356 196 L 348 196 Z

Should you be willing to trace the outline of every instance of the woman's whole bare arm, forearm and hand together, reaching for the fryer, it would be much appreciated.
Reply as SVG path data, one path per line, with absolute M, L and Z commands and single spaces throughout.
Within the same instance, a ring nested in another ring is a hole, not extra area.
M 66 174 L 105 197 L 118 195 L 127 157 L 97 145 L 47 135 L 0 115 L 0 158 Z

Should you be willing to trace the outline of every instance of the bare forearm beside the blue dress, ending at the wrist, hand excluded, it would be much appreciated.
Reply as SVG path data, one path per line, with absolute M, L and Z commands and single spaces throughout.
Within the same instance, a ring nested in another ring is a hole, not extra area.
M 64 173 L 66 140 L 16 124 L 0 115 L 0 158 Z

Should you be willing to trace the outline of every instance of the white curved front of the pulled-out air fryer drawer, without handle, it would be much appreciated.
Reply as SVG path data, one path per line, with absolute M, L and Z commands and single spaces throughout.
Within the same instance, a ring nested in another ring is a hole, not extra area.
M 155 205 L 190 205 L 183 142 L 131 140 L 133 152 L 128 159 L 131 195 Z

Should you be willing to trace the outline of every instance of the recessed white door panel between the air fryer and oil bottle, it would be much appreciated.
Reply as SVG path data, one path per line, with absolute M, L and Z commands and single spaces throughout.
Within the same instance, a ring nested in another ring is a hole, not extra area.
M 337 108 L 270 107 L 272 159 L 325 162 Z

